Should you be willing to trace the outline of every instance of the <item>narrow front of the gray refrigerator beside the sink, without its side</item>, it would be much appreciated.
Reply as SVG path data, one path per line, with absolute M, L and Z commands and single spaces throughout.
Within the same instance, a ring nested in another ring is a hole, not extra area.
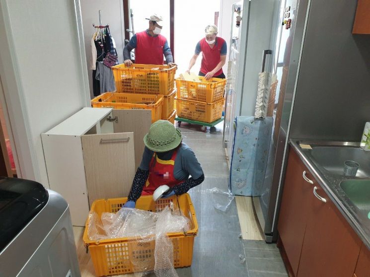
M 284 171 L 283 161 L 288 146 L 287 134 L 309 2 L 309 0 L 281 0 L 278 21 L 275 24 L 276 39 L 270 67 L 271 72 L 275 73 L 278 79 L 274 125 L 265 177 L 262 187 L 259 188 L 260 195 L 253 197 L 253 206 L 266 242 L 277 239 L 274 225 L 277 220 L 278 190 Z

